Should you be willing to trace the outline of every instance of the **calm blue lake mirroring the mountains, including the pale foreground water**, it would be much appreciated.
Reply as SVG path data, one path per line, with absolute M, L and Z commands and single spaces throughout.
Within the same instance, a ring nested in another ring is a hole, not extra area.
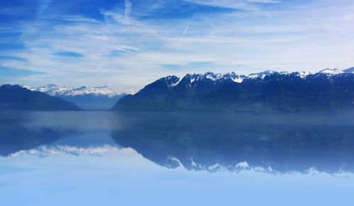
M 0 111 L 1 205 L 353 205 L 354 113 Z

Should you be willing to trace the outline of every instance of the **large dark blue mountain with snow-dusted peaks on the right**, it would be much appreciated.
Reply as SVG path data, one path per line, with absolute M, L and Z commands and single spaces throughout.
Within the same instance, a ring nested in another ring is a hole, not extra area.
M 327 112 L 354 109 L 354 74 L 338 69 L 264 71 L 249 76 L 187 74 L 166 76 L 112 110 L 226 110 Z

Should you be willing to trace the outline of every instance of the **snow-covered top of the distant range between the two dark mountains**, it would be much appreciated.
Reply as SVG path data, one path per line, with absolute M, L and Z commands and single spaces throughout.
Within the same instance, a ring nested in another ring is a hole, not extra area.
M 93 88 L 87 88 L 86 86 L 81 86 L 79 88 L 67 88 L 67 87 L 59 87 L 56 84 L 47 84 L 46 86 L 23 86 L 23 88 L 27 88 L 32 91 L 41 91 L 43 93 L 47 93 L 50 96 L 108 96 L 112 98 L 114 96 L 120 95 L 120 93 L 115 93 L 108 86 L 98 86 Z

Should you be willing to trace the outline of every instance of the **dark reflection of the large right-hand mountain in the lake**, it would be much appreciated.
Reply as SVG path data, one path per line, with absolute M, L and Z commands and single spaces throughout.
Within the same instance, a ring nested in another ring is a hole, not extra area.
M 353 172 L 350 115 L 122 113 L 115 142 L 161 166 Z M 349 123 L 348 123 L 349 122 Z M 353 122 L 353 121 L 351 121 Z

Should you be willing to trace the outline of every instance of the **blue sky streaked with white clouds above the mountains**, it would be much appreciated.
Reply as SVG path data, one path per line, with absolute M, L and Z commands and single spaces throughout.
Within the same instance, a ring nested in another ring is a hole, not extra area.
M 354 66 L 354 1 L 0 2 L 0 84 L 139 89 L 188 72 Z

